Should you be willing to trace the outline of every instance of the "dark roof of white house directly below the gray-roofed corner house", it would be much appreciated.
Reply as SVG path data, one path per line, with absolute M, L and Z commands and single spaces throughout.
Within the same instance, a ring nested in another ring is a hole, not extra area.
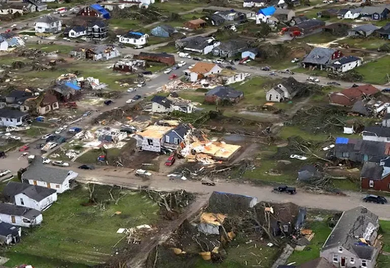
M 14 197 L 16 194 L 23 193 L 37 202 L 40 202 L 55 192 L 55 189 L 13 181 L 10 181 L 3 190 L 3 194 L 9 198 Z

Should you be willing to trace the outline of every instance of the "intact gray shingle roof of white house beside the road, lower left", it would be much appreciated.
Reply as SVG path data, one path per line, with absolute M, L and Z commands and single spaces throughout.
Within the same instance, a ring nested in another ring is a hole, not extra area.
M 69 170 L 51 168 L 42 163 L 42 157 L 32 160 L 27 170 L 22 174 L 22 180 L 35 180 L 62 184 L 68 177 Z

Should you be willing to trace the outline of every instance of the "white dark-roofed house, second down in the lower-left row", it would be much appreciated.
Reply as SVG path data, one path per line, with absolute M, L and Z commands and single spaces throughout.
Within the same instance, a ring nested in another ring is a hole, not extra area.
M 3 190 L 7 203 L 43 211 L 57 200 L 57 191 L 21 182 L 9 182 Z

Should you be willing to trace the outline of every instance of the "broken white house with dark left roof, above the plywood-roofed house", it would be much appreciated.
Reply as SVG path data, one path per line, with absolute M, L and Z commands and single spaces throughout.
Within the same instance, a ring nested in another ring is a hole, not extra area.
M 170 113 L 173 111 L 180 111 L 183 113 L 192 113 L 193 104 L 191 101 L 184 99 L 176 100 L 165 96 L 155 95 L 152 99 L 152 112 L 153 113 Z

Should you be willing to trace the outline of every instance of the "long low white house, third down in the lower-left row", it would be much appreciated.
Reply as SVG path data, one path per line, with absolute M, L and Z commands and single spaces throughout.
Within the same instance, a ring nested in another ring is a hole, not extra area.
M 42 213 L 38 210 L 0 203 L 0 221 L 16 226 L 31 227 L 41 224 L 42 220 Z

